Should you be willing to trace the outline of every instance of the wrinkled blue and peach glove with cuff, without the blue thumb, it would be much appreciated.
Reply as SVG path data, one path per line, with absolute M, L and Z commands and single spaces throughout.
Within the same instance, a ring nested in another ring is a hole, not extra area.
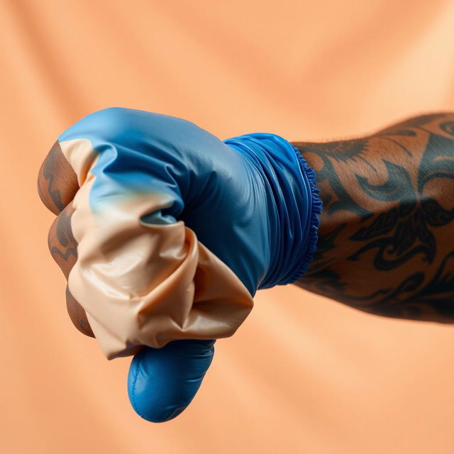
M 58 140 L 79 182 L 68 287 L 109 360 L 231 336 L 258 289 L 306 272 L 321 201 L 284 138 L 109 108 Z

